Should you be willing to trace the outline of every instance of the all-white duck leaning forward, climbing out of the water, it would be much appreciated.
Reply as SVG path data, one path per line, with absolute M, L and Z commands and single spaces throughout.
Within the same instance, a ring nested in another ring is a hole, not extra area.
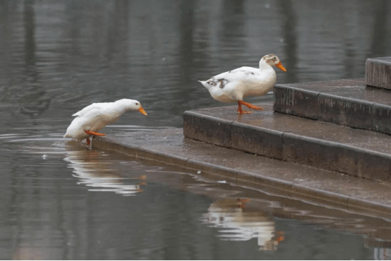
M 87 139 L 87 144 L 90 145 L 90 136 L 106 135 L 105 133 L 97 133 L 97 131 L 107 124 L 116 122 L 126 111 L 140 111 L 141 114 L 147 115 L 140 102 L 135 99 L 93 103 L 72 115 L 76 118 L 66 129 L 64 138 Z

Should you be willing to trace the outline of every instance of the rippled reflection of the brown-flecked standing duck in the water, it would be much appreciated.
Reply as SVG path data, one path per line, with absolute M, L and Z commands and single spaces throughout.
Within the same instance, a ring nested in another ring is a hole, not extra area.
M 203 214 L 203 221 L 219 228 L 219 237 L 227 241 L 248 241 L 258 238 L 260 250 L 277 250 L 284 240 L 282 231 L 275 231 L 275 221 L 260 210 L 247 210 L 249 199 L 220 198 Z

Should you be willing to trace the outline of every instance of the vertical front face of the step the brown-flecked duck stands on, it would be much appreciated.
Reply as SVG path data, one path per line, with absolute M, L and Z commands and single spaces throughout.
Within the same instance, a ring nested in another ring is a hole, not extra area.
M 391 155 L 337 142 L 248 126 L 193 111 L 184 113 L 184 136 L 360 178 L 390 181 Z

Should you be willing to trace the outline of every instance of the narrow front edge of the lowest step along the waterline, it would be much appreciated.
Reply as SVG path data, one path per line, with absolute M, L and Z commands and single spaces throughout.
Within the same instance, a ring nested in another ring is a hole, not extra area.
M 368 212 L 371 212 L 371 216 L 373 217 L 387 219 L 391 217 L 391 205 L 370 202 L 361 198 L 353 198 L 339 193 L 332 193 L 327 190 L 308 188 L 289 181 L 271 178 L 248 171 L 231 169 L 217 164 L 200 162 L 186 157 L 179 157 L 175 154 L 159 152 L 143 146 L 124 145 L 110 137 L 95 137 L 92 145 L 100 150 L 112 150 L 127 154 L 130 157 L 181 166 L 184 169 L 193 170 L 193 174 L 199 176 L 213 176 L 214 178 L 224 177 L 237 186 L 250 186 L 255 189 L 260 188 L 260 186 L 268 186 L 287 191 L 293 195 L 292 198 L 311 202 L 312 204 L 327 205 L 328 207 L 366 215 L 368 215 Z M 201 173 L 197 174 L 198 171 L 201 171 Z

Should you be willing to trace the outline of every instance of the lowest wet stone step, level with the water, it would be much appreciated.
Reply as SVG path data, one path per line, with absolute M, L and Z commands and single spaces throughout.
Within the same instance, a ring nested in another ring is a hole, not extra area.
M 200 178 L 212 172 L 220 175 L 217 176 L 218 181 L 232 181 L 238 186 L 252 184 L 252 187 L 261 188 L 266 193 L 310 200 L 316 204 L 342 204 L 349 211 L 361 208 L 371 214 L 374 214 L 374 210 L 388 213 L 391 210 L 391 187 L 388 183 L 258 157 L 187 139 L 183 130 L 178 128 L 95 137 L 92 146 L 191 168 L 194 170 L 190 173 Z

